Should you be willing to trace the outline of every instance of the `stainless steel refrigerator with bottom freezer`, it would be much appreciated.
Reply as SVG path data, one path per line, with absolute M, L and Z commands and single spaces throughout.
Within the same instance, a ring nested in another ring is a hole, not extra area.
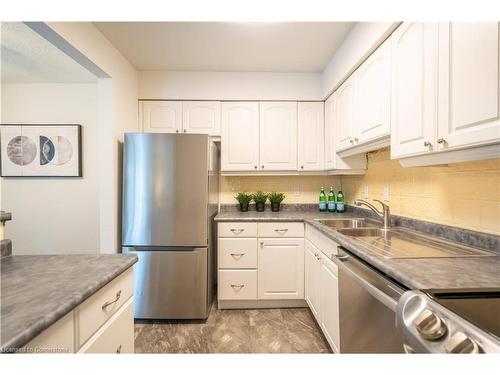
M 134 316 L 205 319 L 214 294 L 219 151 L 207 135 L 127 133 L 122 251 Z

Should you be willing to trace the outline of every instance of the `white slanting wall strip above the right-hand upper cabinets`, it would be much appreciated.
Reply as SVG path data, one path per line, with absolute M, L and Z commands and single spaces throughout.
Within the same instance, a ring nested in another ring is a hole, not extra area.
M 333 92 L 400 24 L 358 22 L 321 74 L 322 96 Z

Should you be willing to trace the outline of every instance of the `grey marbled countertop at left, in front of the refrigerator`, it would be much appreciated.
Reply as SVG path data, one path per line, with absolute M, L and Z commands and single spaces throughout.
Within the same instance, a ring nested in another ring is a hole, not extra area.
M 122 254 L 2 258 L 0 353 L 27 344 L 136 262 Z

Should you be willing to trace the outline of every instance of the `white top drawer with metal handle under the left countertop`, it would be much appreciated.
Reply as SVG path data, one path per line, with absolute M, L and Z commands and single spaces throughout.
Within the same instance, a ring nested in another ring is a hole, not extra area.
M 96 332 L 120 307 L 132 297 L 133 269 L 130 268 L 77 308 L 78 347 Z

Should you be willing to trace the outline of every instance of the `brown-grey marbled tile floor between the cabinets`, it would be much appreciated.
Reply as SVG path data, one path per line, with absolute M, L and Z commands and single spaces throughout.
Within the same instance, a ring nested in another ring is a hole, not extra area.
M 139 321 L 136 353 L 331 353 L 307 308 L 217 310 L 206 321 Z

